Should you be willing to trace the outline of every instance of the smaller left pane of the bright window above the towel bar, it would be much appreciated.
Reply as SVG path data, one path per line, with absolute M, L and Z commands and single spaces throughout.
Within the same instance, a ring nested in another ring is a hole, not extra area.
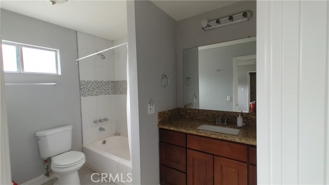
M 2 45 L 2 57 L 4 61 L 4 71 L 17 72 L 17 50 L 13 45 Z

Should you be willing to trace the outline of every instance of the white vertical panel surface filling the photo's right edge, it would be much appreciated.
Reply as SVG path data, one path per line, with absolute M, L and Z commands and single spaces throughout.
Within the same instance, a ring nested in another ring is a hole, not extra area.
M 258 183 L 328 184 L 329 2 L 257 9 Z

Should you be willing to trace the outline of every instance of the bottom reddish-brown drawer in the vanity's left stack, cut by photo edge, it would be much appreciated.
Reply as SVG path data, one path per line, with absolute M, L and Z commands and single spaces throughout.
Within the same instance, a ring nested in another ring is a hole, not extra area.
M 160 184 L 186 184 L 186 173 L 160 165 Z

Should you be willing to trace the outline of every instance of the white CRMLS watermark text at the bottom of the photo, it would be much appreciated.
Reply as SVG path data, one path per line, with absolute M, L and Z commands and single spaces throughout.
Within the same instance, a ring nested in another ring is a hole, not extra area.
M 95 176 L 95 177 L 94 177 Z M 101 179 L 98 179 L 97 177 L 101 177 Z M 93 182 L 132 182 L 132 174 L 127 173 L 117 173 L 115 176 L 113 176 L 111 173 L 93 173 L 92 176 L 90 176 L 90 179 L 92 179 Z M 97 180 L 95 180 L 97 179 Z

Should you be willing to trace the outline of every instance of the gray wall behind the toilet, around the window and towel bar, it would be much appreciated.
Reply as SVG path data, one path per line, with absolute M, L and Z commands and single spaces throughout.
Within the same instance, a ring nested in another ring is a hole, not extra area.
M 1 10 L 2 39 L 60 50 L 62 75 L 6 73 L 6 82 L 57 82 L 56 86 L 7 85 L 12 179 L 45 173 L 35 132 L 72 124 L 72 150 L 81 151 L 81 111 L 76 31 Z

